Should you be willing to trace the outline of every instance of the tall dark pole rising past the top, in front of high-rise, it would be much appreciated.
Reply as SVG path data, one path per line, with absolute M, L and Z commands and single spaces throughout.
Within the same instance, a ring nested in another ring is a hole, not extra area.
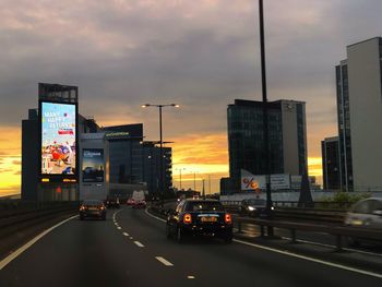
M 271 213 L 271 163 L 270 163 L 270 139 L 268 139 L 268 118 L 267 118 L 267 97 L 266 97 L 266 70 L 265 70 L 265 40 L 264 40 L 264 12 L 263 0 L 259 0 L 259 20 L 260 20 L 260 52 L 261 52 L 261 83 L 263 92 L 263 135 L 264 135 L 264 162 L 266 171 L 266 210 Z

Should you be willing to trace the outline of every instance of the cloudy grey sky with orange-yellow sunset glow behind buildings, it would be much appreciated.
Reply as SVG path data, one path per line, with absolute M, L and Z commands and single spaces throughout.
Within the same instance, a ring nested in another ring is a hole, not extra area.
M 320 141 L 335 135 L 334 65 L 346 46 L 382 34 L 380 0 L 264 0 L 268 97 L 307 103 L 308 154 L 319 175 Z M 20 191 L 21 119 L 37 83 L 80 87 L 80 112 L 100 125 L 164 112 L 175 176 L 228 171 L 226 108 L 261 99 L 255 0 L 0 0 L 0 194 Z M 183 187 L 192 186 L 192 180 Z M 177 183 L 177 178 L 176 178 Z

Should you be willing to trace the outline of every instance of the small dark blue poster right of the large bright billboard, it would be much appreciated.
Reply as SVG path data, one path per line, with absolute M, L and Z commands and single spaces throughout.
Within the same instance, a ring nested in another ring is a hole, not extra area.
M 104 182 L 104 150 L 84 148 L 82 153 L 82 181 Z

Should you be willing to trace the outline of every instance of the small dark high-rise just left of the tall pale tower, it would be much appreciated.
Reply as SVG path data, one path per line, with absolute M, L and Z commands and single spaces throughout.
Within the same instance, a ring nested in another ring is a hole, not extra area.
M 322 176 L 325 190 L 341 189 L 339 141 L 338 136 L 321 142 Z

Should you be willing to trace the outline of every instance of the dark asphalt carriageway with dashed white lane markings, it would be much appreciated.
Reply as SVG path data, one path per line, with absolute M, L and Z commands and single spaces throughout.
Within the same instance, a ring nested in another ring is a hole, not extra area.
M 163 222 L 130 207 L 108 211 L 106 222 L 69 220 L 0 271 L 1 287 L 307 285 L 381 286 L 382 275 L 238 240 L 179 244 L 165 237 Z

